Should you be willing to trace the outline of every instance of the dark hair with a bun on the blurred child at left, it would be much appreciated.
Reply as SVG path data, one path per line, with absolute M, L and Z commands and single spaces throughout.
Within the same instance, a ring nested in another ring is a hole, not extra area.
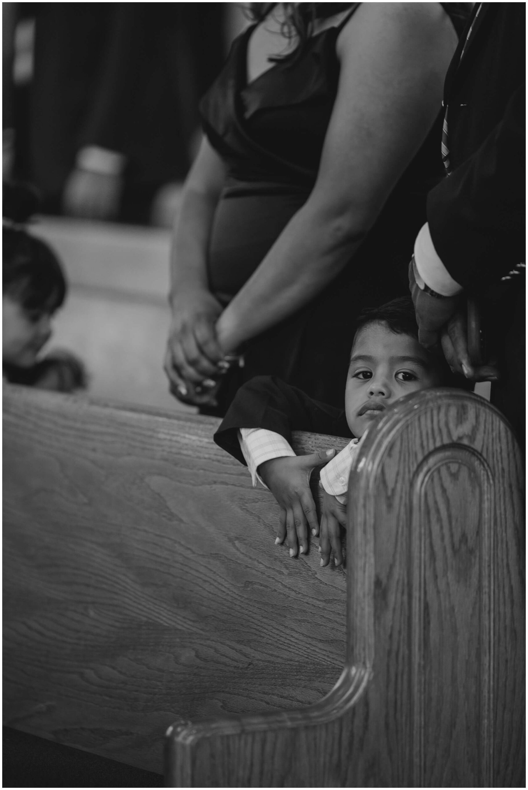
M 26 185 L 2 185 L 2 287 L 25 310 L 54 312 L 66 298 L 66 279 L 49 246 L 25 228 L 38 198 Z

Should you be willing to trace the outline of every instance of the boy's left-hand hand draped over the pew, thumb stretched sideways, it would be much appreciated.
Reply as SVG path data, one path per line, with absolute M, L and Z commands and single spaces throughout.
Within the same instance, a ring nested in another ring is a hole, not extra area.
M 270 458 L 270 461 L 264 461 L 258 467 L 258 474 L 281 506 L 275 543 L 283 543 L 288 534 L 290 557 L 297 555 L 297 540 L 300 554 L 307 553 L 308 525 L 312 535 L 319 535 L 315 502 L 310 491 L 310 474 L 316 466 L 330 461 L 334 453 L 335 450 L 321 450 L 310 455 Z

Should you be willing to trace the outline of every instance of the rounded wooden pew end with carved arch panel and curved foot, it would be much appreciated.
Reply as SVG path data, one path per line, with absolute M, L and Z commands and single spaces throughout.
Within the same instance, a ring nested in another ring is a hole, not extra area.
M 394 404 L 351 473 L 340 681 L 305 709 L 175 722 L 168 786 L 523 786 L 522 490 L 480 397 Z

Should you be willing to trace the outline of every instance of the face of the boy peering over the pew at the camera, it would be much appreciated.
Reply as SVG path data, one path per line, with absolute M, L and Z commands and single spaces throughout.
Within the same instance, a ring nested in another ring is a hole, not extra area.
M 391 332 L 381 322 L 365 325 L 354 338 L 346 382 L 350 430 L 359 438 L 399 397 L 440 383 L 434 359 L 416 337 Z

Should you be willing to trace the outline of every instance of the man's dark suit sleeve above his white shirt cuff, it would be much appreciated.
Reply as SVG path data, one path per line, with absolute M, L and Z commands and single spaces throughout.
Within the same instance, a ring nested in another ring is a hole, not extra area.
M 428 194 L 432 243 L 454 280 L 485 288 L 525 260 L 525 86 L 463 164 Z

